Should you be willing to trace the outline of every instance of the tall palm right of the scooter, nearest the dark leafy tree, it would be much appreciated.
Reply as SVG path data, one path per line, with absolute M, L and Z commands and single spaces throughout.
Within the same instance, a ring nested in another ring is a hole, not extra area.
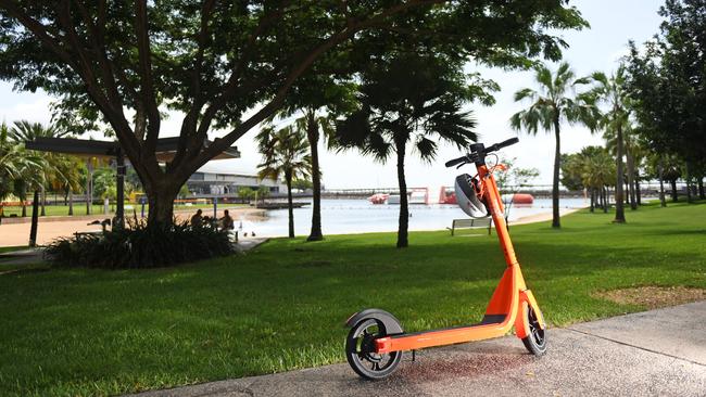
M 591 74 L 590 80 L 594 82 L 593 88 L 587 92 L 593 103 L 605 103 L 608 110 L 601 114 L 597 121 L 598 126 L 606 130 L 615 131 L 616 139 L 616 216 L 613 220 L 617 223 L 625 223 L 623 206 L 623 164 L 622 156 L 625 149 L 625 130 L 629 125 L 630 116 L 630 98 L 627 91 L 627 76 L 623 65 L 610 77 L 602 72 Z

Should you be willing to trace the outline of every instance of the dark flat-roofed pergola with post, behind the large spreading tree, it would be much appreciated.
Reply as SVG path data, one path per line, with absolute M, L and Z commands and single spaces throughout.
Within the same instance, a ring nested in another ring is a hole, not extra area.
M 156 142 L 156 158 L 160 162 L 168 162 L 174 158 L 179 137 L 161 138 Z M 211 141 L 205 142 L 209 146 Z M 25 148 L 41 152 L 64 153 L 85 158 L 115 158 L 116 172 L 116 206 L 115 221 L 118 226 L 124 225 L 125 218 L 125 154 L 119 143 L 110 141 L 94 141 L 75 138 L 36 138 L 34 141 L 25 142 Z M 240 158 L 238 148 L 231 146 L 218 154 L 213 159 Z

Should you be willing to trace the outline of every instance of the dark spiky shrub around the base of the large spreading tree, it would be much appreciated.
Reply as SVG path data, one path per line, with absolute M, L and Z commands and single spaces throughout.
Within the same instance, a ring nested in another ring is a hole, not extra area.
M 212 227 L 128 223 L 125 229 L 99 235 L 59 239 L 47 247 L 45 256 L 64 267 L 127 269 L 173 266 L 236 252 L 227 231 Z

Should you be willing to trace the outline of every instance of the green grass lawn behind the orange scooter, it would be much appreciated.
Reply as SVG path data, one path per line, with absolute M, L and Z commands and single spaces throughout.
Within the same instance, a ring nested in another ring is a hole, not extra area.
M 513 227 L 551 324 L 642 309 L 596 291 L 706 287 L 706 205 L 627 217 Z M 482 317 L 504 269 L 494 236 L 415 232 L 403 251 L 394 239 L 275 240 L 173 269 L 0 276 L 0 395 L 110 395 L 342 362 L 343 322 L 365 307 L 393 312 L 407 331 Z

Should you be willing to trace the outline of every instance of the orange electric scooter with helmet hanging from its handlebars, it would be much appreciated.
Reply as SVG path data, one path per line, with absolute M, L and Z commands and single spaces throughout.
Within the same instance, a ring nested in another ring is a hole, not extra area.
M 476 165 L 478 169 L 476 177 L 470 178 L 464 175 L 458 178 L 467 179 L 466 188 L 470 192 L 467 193 L 469 198 L 476 203 L 481 202 L 486 207 L 483 209 L 489 213 L 483 216 L 492 216 L 507 262 L 507 268 L 495 287 L 482 321 L 472 325 L 404 333 L 400 321 L 384 310 L 360 311 L 351 316 L 345 323 L 351 328 L 345 341 L 345 357 L 358 375 L 370 380 L 381 380 L 396 370 L 404 350 L 414 351 L 425 347 L 503 336 L 513 326 L 515 326 L 517 337 L 522 340 L 525 347 L 531 354 L 540 356 L 546 350 L 546 325 L 534 296 L 525 284 L 519 262 L 515 257 L 513 242 L 507 232 L 497 184 L 492 169 L 486 165 L 486 156 L 489 153 L 518 141 L 517 138 L 513 138 L 488 148 L 482 143 L 476 143 L 470 146 L 470 153 L 446 163 L 446 167 L 456 165 L 461 167 L 470 163 Z M 457 201 L 461 203 L 458 194 L 463 194 L 463 192 L 457 190 Z

